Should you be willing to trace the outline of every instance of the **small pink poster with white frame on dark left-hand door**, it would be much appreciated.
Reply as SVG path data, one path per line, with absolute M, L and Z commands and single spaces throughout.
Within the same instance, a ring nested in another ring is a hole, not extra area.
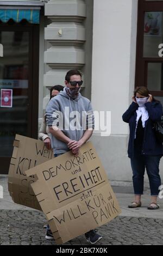
M 1 107 L 12 107 L 12 89 L 1 89 Z

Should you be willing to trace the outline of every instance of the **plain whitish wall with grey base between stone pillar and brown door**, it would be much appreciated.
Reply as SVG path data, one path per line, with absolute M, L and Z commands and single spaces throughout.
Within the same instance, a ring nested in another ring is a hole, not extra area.
M 136 0 L 94 1 L 91 99 L 96 111 L 111 111 L 111 135 L 92 142 L 111 180 L 131 180 L 122 114 L 134 90 L 136 29 Z

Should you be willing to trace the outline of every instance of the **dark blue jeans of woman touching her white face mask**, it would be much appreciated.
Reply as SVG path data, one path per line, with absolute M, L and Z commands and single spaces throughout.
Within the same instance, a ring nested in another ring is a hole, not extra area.
M 131 168 L 133 170 L 134 192 L 137 195 L 143 194 L 145 168 L 149 179 L 151 196 L 158 196 L 161 178 L 159 175 L 159 163 L 161 156 L 147 156 L 139 153 L 134 154 L 131 159 Z

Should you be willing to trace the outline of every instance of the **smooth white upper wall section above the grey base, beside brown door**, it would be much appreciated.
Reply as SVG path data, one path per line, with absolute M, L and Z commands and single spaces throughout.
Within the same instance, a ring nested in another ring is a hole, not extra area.
M 94 1 L 92 104 L 98 111 L 111 111 L 111 134 L 117 136 L 128 134 L 122 113 L 134 90 L 136 3 Z

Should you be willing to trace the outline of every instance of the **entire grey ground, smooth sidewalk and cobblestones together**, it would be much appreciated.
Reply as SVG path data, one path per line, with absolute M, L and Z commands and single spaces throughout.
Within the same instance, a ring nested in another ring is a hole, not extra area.
M 0 199 L 0 245 L 55 245 L 45 239 L 42 212 L 17 205 L 8 193 L 7 176 L 0 175 L 4 198 Z M 133 201 L 132 182 L 110 181 L 120 203 L 122 214 L 100 227 L 103 239 L 97 245 L 163 245 L 163 199 L 158 200 L 159 210 L 147 210 L 150 191 L 145 184 L 142 207 L 128 209 Z M 84 235 L 64 245 L 88 245 Z

